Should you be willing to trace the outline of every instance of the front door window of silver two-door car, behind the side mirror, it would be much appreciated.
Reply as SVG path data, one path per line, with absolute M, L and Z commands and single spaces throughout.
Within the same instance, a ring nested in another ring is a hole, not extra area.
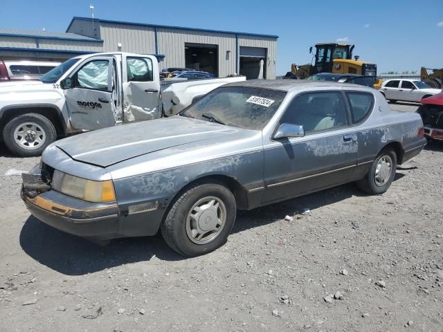
M 303 93 L 296 96 L 280 119 L 280 124 L 303 126 L 306 133 L 347 125 L 347 111 L 339 91 Z

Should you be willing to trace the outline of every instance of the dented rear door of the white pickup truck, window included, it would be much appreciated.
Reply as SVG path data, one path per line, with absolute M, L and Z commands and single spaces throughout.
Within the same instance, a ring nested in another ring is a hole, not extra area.
M 123 55 L 124 121 L 161 117 L 159 64 L 153 56 Z M 154 74 L 155 73 L 155 74 Z

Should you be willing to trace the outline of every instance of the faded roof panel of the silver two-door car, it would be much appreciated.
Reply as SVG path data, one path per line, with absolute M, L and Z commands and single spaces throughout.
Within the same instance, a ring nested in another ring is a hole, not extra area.
M 314 81 L 314 80 L 247 80 L 240 82 L 233 82 L 225 84 L 224 86 L 246 86 L 251 88 L 272 89 L 279 91 L 295 91 L 306 88 L 359 88 L 359 89 L 371 89 L 366 86 L 360 86 L 356 84 L 338 83 L 334 81 Z

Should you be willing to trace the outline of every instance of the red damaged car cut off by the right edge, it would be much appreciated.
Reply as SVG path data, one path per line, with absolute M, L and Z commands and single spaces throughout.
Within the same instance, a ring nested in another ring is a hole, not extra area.
M 428 140 L 443 141 L 443 92 L 423 98 L 417 109 L 424 124 L 424 136 Z

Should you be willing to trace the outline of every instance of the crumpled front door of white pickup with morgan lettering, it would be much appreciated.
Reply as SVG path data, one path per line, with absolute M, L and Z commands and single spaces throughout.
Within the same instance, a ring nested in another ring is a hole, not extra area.
M 87 59 L 62 81 L 73 131 L 90 131 L 121 122 L 114 57 Z

